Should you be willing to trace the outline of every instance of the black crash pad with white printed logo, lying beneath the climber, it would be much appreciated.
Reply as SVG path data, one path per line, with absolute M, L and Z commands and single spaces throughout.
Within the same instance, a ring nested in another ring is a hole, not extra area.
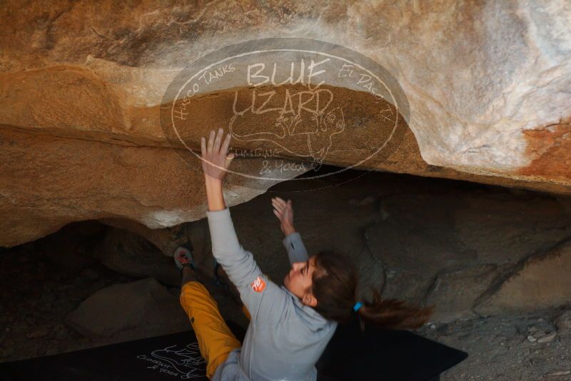
M 239 340 L 244 330 L 228 325 Z M 339 325 L 318 380 L 436 380 L 468 354 L 409 331 Z M 191 330 L 76 352 L 0 363 L 2 381 L 208 380 Z

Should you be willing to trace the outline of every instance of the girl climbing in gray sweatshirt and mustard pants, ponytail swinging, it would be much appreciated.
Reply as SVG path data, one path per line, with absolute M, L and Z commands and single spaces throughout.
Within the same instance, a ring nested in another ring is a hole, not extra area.
M 243 343 L 232 334 L 216 302 L 196 277 L 189 250 L 176 250 L 183 272 L 181 305 L 191 320 L 211 380 L 315 380 L 315 363 L 325 350 L 338 322 L 352 313 L 381 327 L 416 328 L 428 320 L 433 307 L 408 308 L 400 300 L 356 300 L 358 278 L 353 264 L 339 253 L 321 251 L 308 256 L 293 228 L 291 201 L 272 200 L 281 221 L 291 263 L 283 285 L 262 273 L 253 255 L 238 242 L 230 210 L 224 203 L 222 180 L 234 158 L 227 156 L 231 135 L 222 142 L 223 129 L 201 138 L 212 253 L 236 285 L 250 315 Z

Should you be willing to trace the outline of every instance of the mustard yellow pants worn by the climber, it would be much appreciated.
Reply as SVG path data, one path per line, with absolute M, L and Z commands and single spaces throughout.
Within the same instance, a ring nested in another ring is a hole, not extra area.
M 198 339 L 201 355 L 206 360 L 206 377 L 211 380 L 218 365 L 228 358 L 228 354 L 242 346 L 220 315 L 216 300 L 199 282 L 188 282 L 181 288 L 181 305 L 191 320 Z M 245 305 L 242 311 L 248 319 L 250 313 Z

